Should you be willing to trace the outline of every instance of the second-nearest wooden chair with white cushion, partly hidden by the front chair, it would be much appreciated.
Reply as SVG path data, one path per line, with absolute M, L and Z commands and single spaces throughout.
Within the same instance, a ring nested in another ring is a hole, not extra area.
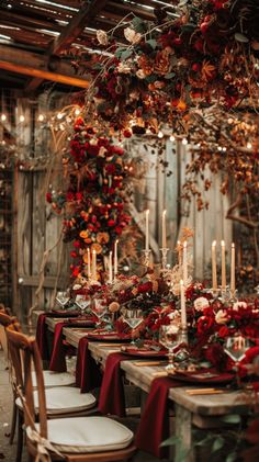
M 3 315 L 0 313 L 0 324 L 4 326 L 5 334 L 7 329 L 12 331 L 21 333 L 21 326 L 16 322 L 15 318 L 10 317 L 8 315 Z M 9 345 L 8 345 L 9 346 Z M 13 378 L 12 382 L 13 386 L 13 415 L 12 415 L 12 424 L 11 424 L 11 437 L 10 443 L 13 442 L 16 422 L 18 422 L 18 450 L 16 450 L 16 462 L 21 461 L 22 458 L 22 449 L 23 449 L 23 406 L 21 398 L 16 395 L 16 388 L 19 385 L 22 385 L 22 376 L 23 373 L 15 367 L 15 357 L 13 357 L 13 352 L 9 348 L 9 359 L 11 361 L 11 370 L 13 369 L 15 373 L 15 378 Z M 41 358 L 41 357 L 40 357 Z M 22 364 L 22 363 L 21 363 Z M 57 418 L 57 417 L 77 417 L 77 416 L 86 416 L 89 412 L 93 412 L 93 408 L 97 404 L 95 397 L 91 393 L 80 393 L 80 390 L 75 386 L 64 386 L 65 383 L 61 380 L 61 386 L 58 386 L 58 375 L 67 373 L 54 373 L 49 371 L 42 371 L 44 381 L 47 379 L 47 387 L 45 387 L 46 393 L 46 408 L 47 408 L 47 416 L 48 418 Z M 47 373 L 47 374 L 46 374 Z M 50 385 L 49 379 L 54 376 L 54 384 Z M 75 382 L 75 380 L 74 380 Z M 37 399 L 37 381 L 36 381 L 36 371 L 32 370 L 32 386 L 33 386 L 33 394 L 34 394 L 34 402 L 35 407 L 38 407 L 38 399 Z M 19 410 L 19 412 L 18 412 Z M 37 413 L 37 410 L 36 410 Z

